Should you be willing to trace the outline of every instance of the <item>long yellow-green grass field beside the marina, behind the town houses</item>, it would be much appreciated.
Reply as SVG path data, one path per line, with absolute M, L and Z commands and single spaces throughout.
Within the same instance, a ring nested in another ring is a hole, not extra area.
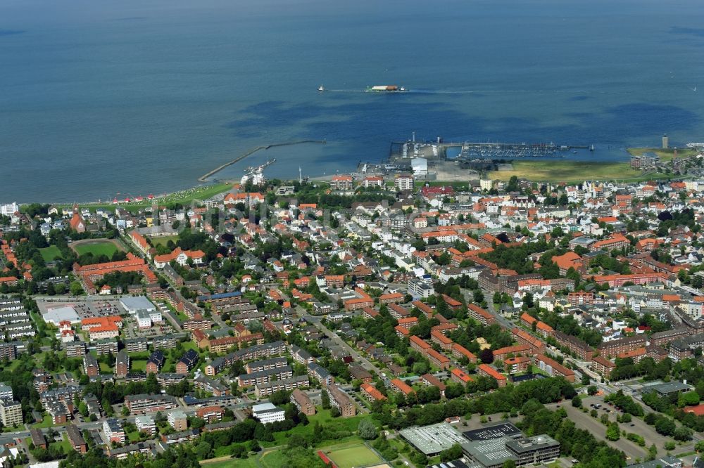
M 585 162 L 568 160 L 513 161 L 513 170 L 491 171 L 487 178 L 508 181 L 511 176 L 530 181 L 579 182 L 586 179 L 615 180 L 654 178 L 644 176 L 641 171 L 631 169 L 628 162 Z M 662 174 L 661 174 L 662 176 Z

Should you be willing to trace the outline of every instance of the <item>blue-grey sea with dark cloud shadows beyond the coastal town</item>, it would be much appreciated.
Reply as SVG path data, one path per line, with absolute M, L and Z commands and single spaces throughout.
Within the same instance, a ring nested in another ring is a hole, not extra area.
M 179 190 L 308 139 L 218 177 L 346 171 L 412 131 L 702 141 L 702 25 L 700 0 L 2 0 L 0 200 Z

